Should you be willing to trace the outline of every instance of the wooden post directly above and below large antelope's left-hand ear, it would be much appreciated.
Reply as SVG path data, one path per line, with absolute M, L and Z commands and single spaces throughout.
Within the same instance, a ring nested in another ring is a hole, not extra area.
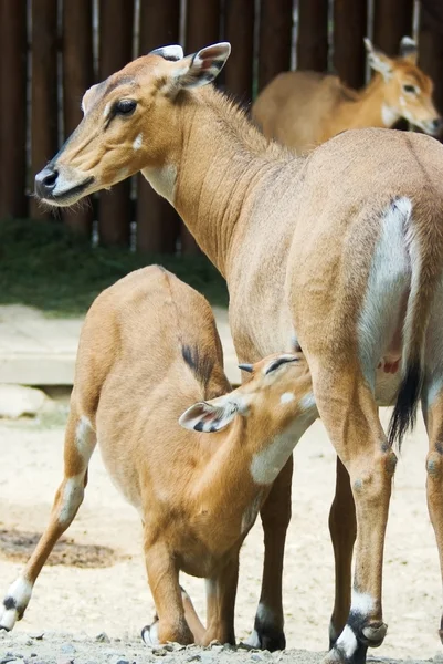
M 180 0 L 141 0 L 140 55 L 179 41 Z M 146 179 L 137 178 L 137 250 L 175 253 L 180 217 Z

